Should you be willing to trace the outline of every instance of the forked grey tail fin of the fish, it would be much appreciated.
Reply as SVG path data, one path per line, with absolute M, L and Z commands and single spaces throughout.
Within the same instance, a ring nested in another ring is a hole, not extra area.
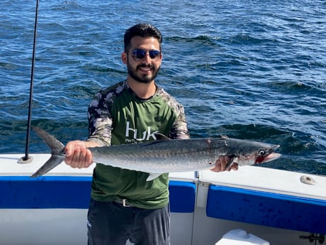
M 57 140 L 54 136 L 48 134 L 43 129 L 40 129 L 37 126 L 30 126 L 33 131 L 38 134 L 40 138 L 43 139 L 43 141 L 47 144 L 47 146 L 51 149 L 51 157 L 49 160 L 47 160 L 42 167 L 40 167 L 33 175 L 31 175 L 31 178 L 37 178 L 41 175 L 44 175 L 45 173 L 52 170 L 52 168 L 55 168 L 57 165 L 62 163 L 64 160 L 63 150 L 64 145 Z

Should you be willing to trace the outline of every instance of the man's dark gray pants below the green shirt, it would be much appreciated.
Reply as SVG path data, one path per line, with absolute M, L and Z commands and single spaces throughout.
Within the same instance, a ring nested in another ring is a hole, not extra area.
M 169 205 L 162 209 L 123 207 L 117 202 L 91 200 L 88 245 L 169 245 Z

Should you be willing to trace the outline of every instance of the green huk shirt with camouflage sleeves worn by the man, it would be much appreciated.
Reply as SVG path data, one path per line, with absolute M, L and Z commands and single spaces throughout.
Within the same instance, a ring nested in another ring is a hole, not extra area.
M 89 141 L 102 146 L 139 143 L 154 140 L 154 133 L 189 138 L 184 107 L 160 87 L 150 99 L 140 99 L 127 82 L 119 82 L 98 92 L 89 105 Z M 147 177 L 148 173 L 97 163 L 91 197 L 98 201 L 127 199 L 141 208 L 165 207 L 168 173 L 151 181 Z

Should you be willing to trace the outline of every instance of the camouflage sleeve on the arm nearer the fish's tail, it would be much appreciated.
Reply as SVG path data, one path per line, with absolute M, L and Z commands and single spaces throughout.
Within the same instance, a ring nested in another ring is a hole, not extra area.
M 111 145 L 112 116 L 108 103 L 107 94 L 100 91 L 93 97 L 89 104 L 89 138 L 87 141 L 94 141 L 100 146 Z

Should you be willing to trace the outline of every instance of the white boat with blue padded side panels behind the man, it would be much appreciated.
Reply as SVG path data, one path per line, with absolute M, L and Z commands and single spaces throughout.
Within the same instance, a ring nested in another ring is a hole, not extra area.
M 21 157 L 0 154 L 0 244 L 86 244 L 95 164 L 30 178 L 50 154 Z M 323 244 L 325 187 L 323 175 L 262 166 L 170 173 L 171 244 Z

